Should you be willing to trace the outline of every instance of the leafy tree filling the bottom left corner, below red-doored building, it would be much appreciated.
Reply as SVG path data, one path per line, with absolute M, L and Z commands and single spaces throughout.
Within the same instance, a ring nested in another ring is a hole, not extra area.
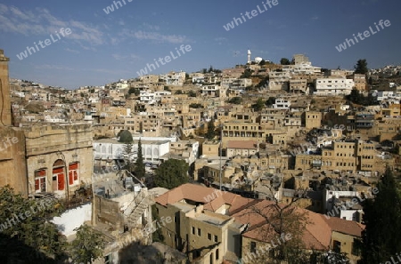
M 66 238 L 50 222 L 63 211 L 55 198 L 26 199 L 10 186 L 1 187 L 1 262 L 56 263 L 66 259 Z

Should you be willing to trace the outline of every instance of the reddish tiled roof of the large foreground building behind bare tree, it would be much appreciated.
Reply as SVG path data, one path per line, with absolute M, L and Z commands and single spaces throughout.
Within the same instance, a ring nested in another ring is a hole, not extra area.
M 207 203 L 208 198 L 210 199 L 209 203 Z M 167 204 L 175 204 L 182 199 L 204 203 L 204 210 L 213 212 L 216 212 L 224 204 L 229 204 L 228 215 L 232 216 L 236 222 L 249 225 L 243 236 L 266 242 L 277 238 L 273 227 L 266 223 L 266 216 L 274 215 L 277 212 L 274 209 L 276 205 L 272 201 L 245 198 L 229 192 L 220 192 L 216 188 L 207 188 L 190 183 L 168 191 L 155 198 L 155 201 L 166 206 Z M 278 204 L 278 206 L 285 205 Z M 293 212 L 305 216 L 306 224 L 302 230 L 301 240 L 307 249 L 328 250 L 332 231 L 350 236 L 361 236 L 361 232 L 364 230 L 364 225 L 355 221 L 339 218 L 327 220 L 320 213 L 310 212 L 299 207 L 291 208 L 294 210 Z

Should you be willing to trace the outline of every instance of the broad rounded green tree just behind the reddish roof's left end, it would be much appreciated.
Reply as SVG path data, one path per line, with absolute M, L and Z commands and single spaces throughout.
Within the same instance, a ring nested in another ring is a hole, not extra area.
M 188 182 L 188 169 L 184 160 L 169 159 L 156 169 L 154 182 L 157 187 L 176 188 Z

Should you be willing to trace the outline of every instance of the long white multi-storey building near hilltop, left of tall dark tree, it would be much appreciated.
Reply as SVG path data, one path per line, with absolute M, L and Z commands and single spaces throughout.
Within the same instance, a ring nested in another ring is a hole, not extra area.
M 355 86 L 354 80 L 346 78 L 318 78 L 315 95 L 348 95 Z

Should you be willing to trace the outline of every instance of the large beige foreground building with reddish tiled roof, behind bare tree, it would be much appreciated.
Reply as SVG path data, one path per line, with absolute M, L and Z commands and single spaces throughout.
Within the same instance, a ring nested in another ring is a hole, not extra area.
M 165 243 L 185 252 L 192 263 L 250 260 L 257 256 L 260 246 L 280 238 L 274 232 L 266 232 L 273 230 L 265 218 L 275 212 L 268 210 L 271 201 L 184 184 L 157 197 L 155 202 L 160 218 L 174 219 L 161 228 Z M 293 246 L 300 239 L 306 252 L 335 250 L 345 252 L 351 260 L 359 259 L 353 243 L 361 238 L 364 226 L 348 220 L 326 220 L 322 214 L 305 209 L 296 211 L 306 216 L 307 227 L 297 230 L 297 234 L 284 228 L 284 236 L 289 235 L 288 241 L 294 241 Z

